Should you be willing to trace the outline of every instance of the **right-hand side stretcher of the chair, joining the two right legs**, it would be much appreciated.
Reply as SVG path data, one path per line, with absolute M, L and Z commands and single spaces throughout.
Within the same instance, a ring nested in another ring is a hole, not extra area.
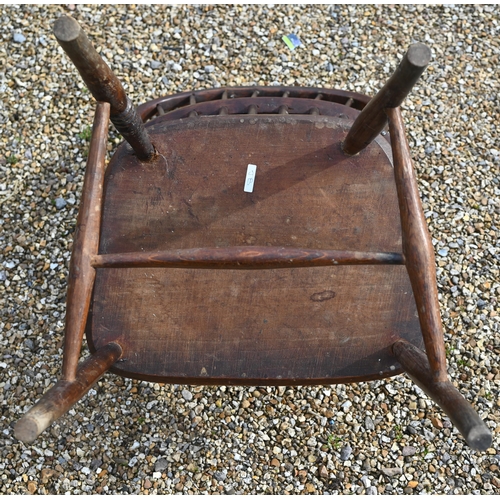
M 434 247 L 420 202 L 401 111 L 399 108 L 388 109 L 387 114 L 403 228 L 403 254 L 417 303 L 432 377 L 436 382 L 444 382 L 448 380 L 448 376 L 436 285 Z

